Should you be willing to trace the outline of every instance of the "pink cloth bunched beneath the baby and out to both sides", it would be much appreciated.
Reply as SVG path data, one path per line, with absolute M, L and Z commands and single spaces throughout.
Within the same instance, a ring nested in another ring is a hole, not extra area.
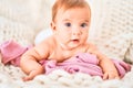
M 30 47 L 22 47 L 14 41 L 7 41 L 0 45 L 0 52 L 2 55 L 3 64 L 12 64 L 19 66 L 21 55 Z M 127 72 L 131 70 L 131 65 L 122 61 L 112 59 L 115 67 L 117 68 L 120 77 L 123 77 Z M 99 66 L 99 59 L 95 55 L 89 53 L 80 53 L 75 56 L 66 59 L 62 63 L 55 61 L 42 61 L 40 62 L 45 67 L 45 74 L 50 74 L 55 69 L 63 69 L 68 73 L 85 73 L 91 76 L 103 76 L 103 72 Z M 109 66 L 110 68 L 110 66 Z

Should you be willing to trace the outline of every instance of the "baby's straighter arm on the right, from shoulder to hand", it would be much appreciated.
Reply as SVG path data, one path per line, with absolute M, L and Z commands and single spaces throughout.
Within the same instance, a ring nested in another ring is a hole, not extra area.
M 90 47 L 91 48 L 89 50 L 89 52 L 96 55 L 100 61 L 99 65 L 101 66 L 104 73 L 103 79 L 120 78 L 117 69 L 114 66 L 114 63 L 105 55 L 103 55 L 93 44 L 90 44 Z

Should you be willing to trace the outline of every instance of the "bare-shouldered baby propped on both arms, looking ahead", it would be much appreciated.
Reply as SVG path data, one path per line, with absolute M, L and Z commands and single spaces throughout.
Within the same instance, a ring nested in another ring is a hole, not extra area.
M 49 59 L 61 63 L 78 53 L 96 55 L 100 61 L 99 66 L 104 73 L 103 79 L 119 78 L 112 61 L 86 41 L 90 22 L 91 9 L 85 0 L 55 0 L 51 22 L 53 34 L 27 51 L 21 57 L 20 67 L 28 74 L 23 80 L 31 80 L 44 73 L 40 61 Z

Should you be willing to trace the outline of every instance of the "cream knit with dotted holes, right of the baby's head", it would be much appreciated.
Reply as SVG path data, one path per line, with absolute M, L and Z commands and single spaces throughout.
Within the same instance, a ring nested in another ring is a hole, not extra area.
M 109 57 L 133 63 L 133 1 L 104 0 L 93 37 Z

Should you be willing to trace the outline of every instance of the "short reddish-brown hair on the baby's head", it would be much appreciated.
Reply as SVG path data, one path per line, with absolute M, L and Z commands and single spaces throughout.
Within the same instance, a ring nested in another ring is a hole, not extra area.
M 90 6 L 85 0 L 55 0 L 55 3 L 52 7 L 52 21 L 55 20 L 59 9 L 63 8 L 63 10 L 65 11 L 71 8 L 84 8 L 84 7 L 88 7 L 90 9 Z

